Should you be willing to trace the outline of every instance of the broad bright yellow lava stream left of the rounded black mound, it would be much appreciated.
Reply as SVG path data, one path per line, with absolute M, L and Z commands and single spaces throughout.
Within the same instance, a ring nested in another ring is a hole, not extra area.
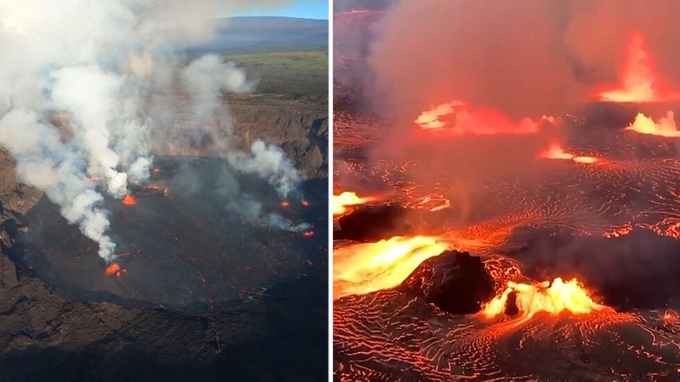
M 395 236 L 333 251 L 333 298 L 398 286 L 423 261 L 441 254 L 448 243 L 431 236 Z

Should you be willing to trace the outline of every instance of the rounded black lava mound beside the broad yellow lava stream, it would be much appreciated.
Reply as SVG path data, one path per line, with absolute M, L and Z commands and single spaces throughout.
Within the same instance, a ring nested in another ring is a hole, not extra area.
M 421 263 L 396 289 L 422 295 L 448 313 L 473 314 L 493 298 L 495 281 L 482 259 L 453 250 Z

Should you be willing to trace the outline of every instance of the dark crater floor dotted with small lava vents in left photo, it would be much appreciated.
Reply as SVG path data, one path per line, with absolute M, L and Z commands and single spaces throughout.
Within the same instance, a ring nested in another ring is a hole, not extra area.
M 96 245 L 47 198 L 26 214 L 30 229 L 19 234 L 10 256 L 73 301 L 192 314 L 221 311 L 303 277 L 321 258 L 321 180 L 305 182 L 283 207 L 266 181 L 235 175 L 224 159 L 157 157 L 155 166 L 150 185 L 130 187 L 126 200 L 134 202 L 105 201 L 119 243 L 110 275 Z M 299 232 L 277 229 L 263 220 L 267 214 L 311 225 Z

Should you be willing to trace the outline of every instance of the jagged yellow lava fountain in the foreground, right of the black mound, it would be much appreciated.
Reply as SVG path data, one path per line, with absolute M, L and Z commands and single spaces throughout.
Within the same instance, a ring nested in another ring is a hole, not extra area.
M 575 315 L 594 311 L 610 311 L 609 306 L 597 304 L 590 298 L 588 290 L 577 279 L 562 281 L 559 277 L 541 284 L 522 284 L 508 281 L 503 293 L 488 302 L 482 315 L 493 318 L 504 313 L 510 293 L 516 293 L 516 306 L 522 318 L 532 318 L 536 313 L 546 312 L 559 315 L 569 312 Z

